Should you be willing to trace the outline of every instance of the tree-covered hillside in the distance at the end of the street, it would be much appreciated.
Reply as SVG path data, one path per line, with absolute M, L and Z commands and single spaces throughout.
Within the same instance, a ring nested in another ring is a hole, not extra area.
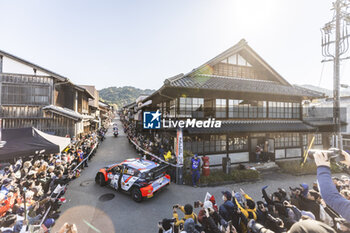
M 155 90 L 139 89 L 131 86 L 107 87 L 99 90 L 100 98 L 109 104 L 115 104 L 118 108 L 136 100 L 140 95 L 150 95 Z

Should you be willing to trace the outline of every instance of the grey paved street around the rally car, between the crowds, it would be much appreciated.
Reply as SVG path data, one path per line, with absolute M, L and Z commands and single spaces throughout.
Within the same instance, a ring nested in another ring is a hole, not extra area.
M 118 125 L 120 122 L 117 120 Z M 166 190 L 142 203 L 136 203 L 123 193 L 118 193 L 108 187 L 100 187 L 94 182 L 96 172 L 103 166 L 123 161 L 126 158 L 137 157 L 137 153 L 128 143 L 126 135 L 121 132 L 117 138 L 112 130 L 107 133 L 106 140 L 101 144 L 96 156 L 89 162 L 81 177 L 73 180 L 65 194 L 67 202 L 63 204 L 61 217 L 54 231 L 64 222 L 75 223 L 80 232 L 118 232 L 118 233 L 153 233 L 157 232 L 157 222 L 170 218 L 172 206 L 176 203 L 193 203 L 203 200 L 206 192 L 214 194 L 221 204 L 221 191 L 239 190 L 243 188 L 255 200 L 261 199 L 261 187 L 269 185 L 268 192 L 277 187 L 288 188 L 302 182 L 311 184 L 315 176 L 291 176 L 286 174 L 266 174 L 261 181 L 255 183 L 240 183 L 221 187 L 192 188 L 186 185 L 171 184 Z M 114 194 L 109 201 L 99 198 L 104 194 Z

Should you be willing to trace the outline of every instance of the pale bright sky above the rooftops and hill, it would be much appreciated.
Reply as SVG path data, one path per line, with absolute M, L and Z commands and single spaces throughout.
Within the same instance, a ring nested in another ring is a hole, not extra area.
M 331 89 L 320 28 L 333 17 L 332 2 L 0 0 L 0 50 L 76 84 L 158 89 L 244 38 L 290 83 Z M 15 68 L 5 61 L 5 72 Z

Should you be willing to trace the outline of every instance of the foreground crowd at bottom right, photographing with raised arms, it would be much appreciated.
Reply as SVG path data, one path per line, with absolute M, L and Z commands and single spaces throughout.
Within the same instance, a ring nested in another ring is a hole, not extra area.
M 350 155 L 343 155 L 349 166 Z M 207 193 L 204 202 L 174 205 L 173 218 L 159 222 L 159 233 L 350 232 L 350 178 L 332 177 L 326 157 L 315 154 L 317 181 L 310 186 L 303 183 L 289 190 L 264 186 L 257 190 L 263 197 L 259 201 L 242 189 L 225 190 L 219 206 Z

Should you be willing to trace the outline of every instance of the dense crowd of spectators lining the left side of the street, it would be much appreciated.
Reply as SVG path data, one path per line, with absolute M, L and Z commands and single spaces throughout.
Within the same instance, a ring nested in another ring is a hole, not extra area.
M 88 166 L 105 132 L 73 137 L 61 153 L 42 151 L 2 167 L 0 232 L 49 232 L 65 202 L 67 184 Z M 62 229 L 59 232 L 77 232 L 75 225 L 65 224 Z

